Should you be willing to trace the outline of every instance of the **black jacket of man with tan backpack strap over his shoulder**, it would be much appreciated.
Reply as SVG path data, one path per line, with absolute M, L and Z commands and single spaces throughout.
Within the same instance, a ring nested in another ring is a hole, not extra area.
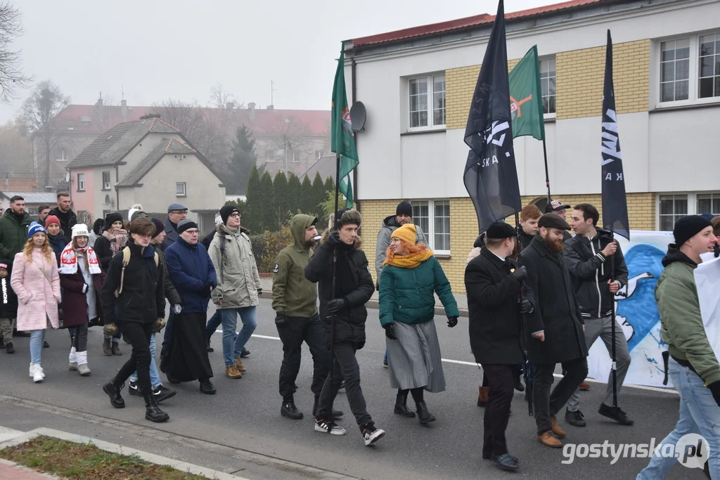
M 115 323 L 116 305 L 117 317 L 122 322 L 155 322 L 158 317 L 165 317 L 165 263 L 158 258 L 158 266 L 155 266 L 153 245 L 145 247 L 144 252 L 133 242 L 128 242 L 127 246 L 130 247 L 130 262 L 125 267 L 122 293 L 115 297 L 122 274 L 122 250 L 110 261 L 102 286 L 100 296 L 105 323 Z

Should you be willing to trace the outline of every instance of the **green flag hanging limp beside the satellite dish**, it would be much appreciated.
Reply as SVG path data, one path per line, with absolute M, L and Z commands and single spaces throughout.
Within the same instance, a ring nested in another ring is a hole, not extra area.
M 350 183 L 350 172 L 358 165 L 359 161 L 350 125 L 348 97 L 345 92 L 345 52 L 343 50 L 340 52 L 333 85 L 333 111 L 330 114 L 333 122 L 331 150 L 340 157 L 338 189 L 347 199 L 346 208 L 351 208 L 353 206 L 353 187 Z

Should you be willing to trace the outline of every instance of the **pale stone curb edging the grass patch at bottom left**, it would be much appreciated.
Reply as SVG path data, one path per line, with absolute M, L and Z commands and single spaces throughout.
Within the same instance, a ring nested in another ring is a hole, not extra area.
M 59 438 L 60 440 L 67 440 L 69 442 L 75 442 L 75 443 L 91 443 L 92 445 L 95 445 L 97 448 L 101 450 L 105 450 L 110 453 L 120 453 L 120 455 L 135 455 L 139 458 L 143 459 L 144 461 L 148 461 L 150 463 L 156 463 L 156 465 L 167 465 L 171 466 L 172 468 L 176 468 L 176 470 L 188 472 L 189 474 L 195 474 L 195 475 L 202 475 L 207 477 L 208 479 L 213 480 L 248 480 L 241 476 L 231 475 L 231 474 L 225 474 L 225 472 L 212 470 L 212 468 L 205 468 L 199 465 L 194 465 L 192 463 L 186 463 L 183 461 L 174 460 L 172 458 L 167 458 L 159 455 L 155 455 L 154 453 L 148 453 L 143 452 L 142 450 L 135 450 L 135 448 L 127 448 L 123 447 L 122 445 L 117 445 L 116 443 L 109 443 L 104 440 L 97 440 L 96 438 L 90 438 L 90 437 L 84 437 L 82 435 L 75 435 L 73 433 L 67 433 L 67 432 L 60 432 L 60 430 L 53 430 L 51 428 L 36 428 L 35 430 L 30 430 L 30 432 L 22 433 L 22 435 L 17 435 L 14 438 L 11 438 L 10 440 L 5 440 L 4 442 L 0 443 L 0 450 L 8 447 L 14 447 L 16 445 L 20 445 L 21 443 L 25 443 L 28 440 L 32 440 L 33 438 L 39 436 L 39 435 L 45 435 L 47 437 L 53 437 L 53 438 Z M 50 478 L 58 478 L 58 477 L 50 477 Z

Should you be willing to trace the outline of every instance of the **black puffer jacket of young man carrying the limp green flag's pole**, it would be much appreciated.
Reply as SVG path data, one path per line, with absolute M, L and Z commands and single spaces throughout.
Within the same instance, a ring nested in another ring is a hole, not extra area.
M 330 314 L 327 304 L 333 299 L 333 248 L 328 245 L 328 232 L 323 234 L 321 245 L 315 248 L 310 262 L 305 267 L 305 278 L 319 282 L 320 319 L 325 326 L 325 343 L 330 342 L 330 321 L 335 322 L 335 342 L 351 341 L 359 349 L 365 345 L 365 320 L 368 302 L 375 287 L 365 253 L 360 250 L 362 240 L 355 237 L 353 245 L 338 245 L 336 271 L 336 299 L 344 298 L 348 306 L 337 314 Z

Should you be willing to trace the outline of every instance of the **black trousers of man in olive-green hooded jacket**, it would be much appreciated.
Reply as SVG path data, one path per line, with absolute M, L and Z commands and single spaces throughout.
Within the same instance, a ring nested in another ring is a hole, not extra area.
M 312 354 L 312 384 L 310 390 L 315 398 L 320 397 L 323 384 L 328 378 L 329 359 L 325 349 L 325 330 L 320 322 L 320 315 L 310 318 L 286 317 L 287 320 L 276 325 L 282 340 L 282 366 L 280 366 L 280 395 L 283 402 L 291 402 L 297 385 L 297 372 L 300 371 L 302 359 L 302 343 L 307 343 Z

